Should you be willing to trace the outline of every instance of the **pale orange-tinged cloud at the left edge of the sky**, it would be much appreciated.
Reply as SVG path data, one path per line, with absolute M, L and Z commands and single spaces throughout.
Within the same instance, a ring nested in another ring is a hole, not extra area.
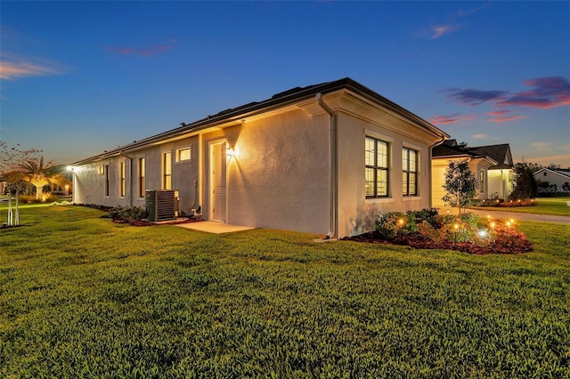
M 21 77 L 47 77 L 62 73 L 63 70 L 54 63 L 35 62 L 12 54 L 0 54 L 0 79 L 15 80 Z

